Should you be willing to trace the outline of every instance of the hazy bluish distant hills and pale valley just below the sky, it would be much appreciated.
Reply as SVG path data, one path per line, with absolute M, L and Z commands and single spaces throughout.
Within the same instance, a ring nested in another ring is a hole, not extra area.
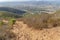
M 0 2 L 2 7 L 11 7 L 18 10 L 29 10 L 40 12 L 43 10 L 48 10 L 48 12 L 60 9 L 59 1 L 24 1 L 24 2 Z M 39 13 L 38 12 L 38 13 Z M 19 13 L 19 12 L 18 12 Z

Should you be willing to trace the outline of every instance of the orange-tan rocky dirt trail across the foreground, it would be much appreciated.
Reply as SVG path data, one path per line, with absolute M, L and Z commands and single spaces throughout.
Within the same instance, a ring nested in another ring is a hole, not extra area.
M 23 21 L 17 21 L 12 31 L 17 35 L 16 40 L 60 40 L 60 27 L 34 30 Z

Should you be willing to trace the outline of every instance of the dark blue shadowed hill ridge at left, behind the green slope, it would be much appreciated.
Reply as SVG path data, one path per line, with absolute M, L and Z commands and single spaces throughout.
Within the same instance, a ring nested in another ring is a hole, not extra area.
M 9 7 L 0 7 L 0 11 L 7 11 L 7 12 L 16 13 L 16 14 L 24 14 L 24 13 L 26 13 L 23 10 L 18 10 L 18 9 L 9 8 Z

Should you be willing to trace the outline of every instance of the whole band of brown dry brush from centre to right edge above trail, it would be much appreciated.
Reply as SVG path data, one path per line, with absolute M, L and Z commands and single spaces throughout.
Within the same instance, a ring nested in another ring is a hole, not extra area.
M 24 23 L 34 29 L 44 29 L 60 26 L 60 12 L 56 11 L 53 14 L 27 14 L 22 18 Z

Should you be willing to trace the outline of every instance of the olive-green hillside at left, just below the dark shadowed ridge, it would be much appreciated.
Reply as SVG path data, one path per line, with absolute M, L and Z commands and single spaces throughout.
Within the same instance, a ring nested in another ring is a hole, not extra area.
M 7 12 L 7 11 L 0 11 L 0 18 L 19 18 L 21 15 L 16 13 Z

